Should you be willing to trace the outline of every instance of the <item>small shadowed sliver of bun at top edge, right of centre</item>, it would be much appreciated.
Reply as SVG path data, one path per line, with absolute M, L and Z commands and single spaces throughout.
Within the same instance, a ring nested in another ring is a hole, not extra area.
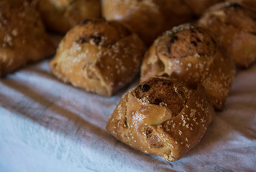
M 224 0 L 185 0 L 185 3 L 192 9 L 196 15 L 201 15 L 209 6 Z

